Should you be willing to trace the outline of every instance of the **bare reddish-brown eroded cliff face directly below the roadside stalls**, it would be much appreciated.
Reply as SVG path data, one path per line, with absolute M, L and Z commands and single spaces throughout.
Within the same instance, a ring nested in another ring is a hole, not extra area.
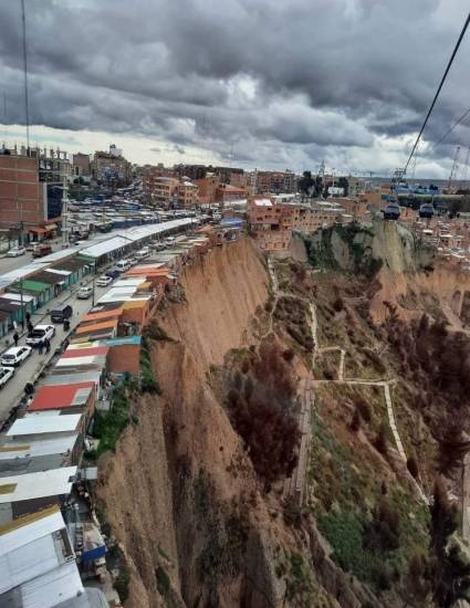
M 152 342 L 161 396 L 136 405 L 98 489 L 126 555 L 129 606 L 262 607 L 283 597 L 274 556 L 290 533 L 269 516 L 207 381 L 211 365 L 250 343 L 268 282 L 251 241 L 223 245 L 184 270 L 186 301 L 158 317 L 168 336 Z

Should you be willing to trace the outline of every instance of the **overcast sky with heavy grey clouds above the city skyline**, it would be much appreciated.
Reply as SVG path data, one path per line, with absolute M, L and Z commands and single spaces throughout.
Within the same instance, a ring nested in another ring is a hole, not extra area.
M 31 140 L 136 163 L 389 175 L 403 166 L 468 0 L 25 0 Z M 21 2 L 0 2 L 0 140 L 24 139 Z M 470 116 L 470 32 L 425 133 L 447 177 Z M 469 172 L 470 177 L 470 172 Z

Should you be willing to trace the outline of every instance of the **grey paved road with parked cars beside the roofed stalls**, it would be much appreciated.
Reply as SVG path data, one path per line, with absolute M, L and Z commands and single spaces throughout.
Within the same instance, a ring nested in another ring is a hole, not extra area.
M 90 279 L 91 281 L 91 279 Z M 98 300 L 105 292 L 112 287 L 112 284 L 107 287 L 96 287 L 95 300 Z M 92 307 L 92 298 L 90 300 L 76 300 L 75 294 L 80 289 L 80 285 L 74 285 L 73 291 L 66 290 L 59 297 L 51 300 L 46 306 L 42 306 L 33 315 L 31 315 L 31 323 L 38 325 L 42 321 L 48 322 L 49 312 L 53 308 L 60 307 L 61 304 L 71 304 L 73 307 L 73 317 L 71 318 L 71 331 L 76 327 L 84 314 Z M 8 418 L 8 415 L 14 406 L 18 405 L 21 397 L 24 395 L 23 389 L 24 385 L 29 381 L 34 381 L 38 375 L 41 373 L 43 367 L 53 358 L 54 352 L 61 346 L 62 342 L 66 338 L 69 333 L 63 331 L 63 326 L 58 324 L 55 336 L 51 340 L 51 350 L 46 355 L 43 353 L 39 354 L 36 349 L 33 350 L 32 355 L 17 368 L 17 371 L 13 378 L 1 389 L 0 392 L 0 426 Z M 9 335 L 9 340 L 11 337 Z M 19 344 L 25 343 L 25 334 L 20 338 Z M 4 338 L 2 340 L 2 348 L 4 349 Z

